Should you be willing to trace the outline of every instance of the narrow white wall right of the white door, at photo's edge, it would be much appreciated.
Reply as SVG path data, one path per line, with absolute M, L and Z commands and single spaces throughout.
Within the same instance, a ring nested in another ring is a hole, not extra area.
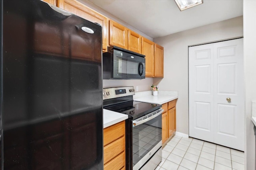
M 244 0 L 244 77 L 246 123 L 246 169 L 255 170 L 255 137 L 252 100 L 256 100 L 256 1 Z

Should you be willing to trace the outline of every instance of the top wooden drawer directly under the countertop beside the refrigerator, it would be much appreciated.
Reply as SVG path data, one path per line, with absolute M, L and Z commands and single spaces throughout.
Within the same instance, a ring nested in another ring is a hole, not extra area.
M 103 145 L 104 147 L 108 145 L 109 143 L 116 141 L 116 139 L 124 136 L 125 134 L 125 121 L 122 121 L 120 123 L 116 123 L 110 127 L 106 127 L 103 130 L 104 134 L 104 141 Z

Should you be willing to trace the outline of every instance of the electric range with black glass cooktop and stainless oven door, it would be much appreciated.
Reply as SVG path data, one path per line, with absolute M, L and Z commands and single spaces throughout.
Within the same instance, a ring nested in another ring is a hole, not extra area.
M 103 108 L 124 113 L 126 170 L 154 170 L 162 160 L 162 105 L 133 101 L 134 87 L 103 89 Z

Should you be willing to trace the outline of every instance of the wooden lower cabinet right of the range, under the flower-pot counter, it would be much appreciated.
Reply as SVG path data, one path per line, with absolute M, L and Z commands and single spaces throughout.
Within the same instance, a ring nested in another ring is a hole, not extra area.
M 162 144 L 176 132 L 176 100 L 162 104 Z

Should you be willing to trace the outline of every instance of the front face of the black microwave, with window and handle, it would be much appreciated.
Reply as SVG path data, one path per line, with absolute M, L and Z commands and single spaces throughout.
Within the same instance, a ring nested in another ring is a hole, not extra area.
M 145 78 L 145 58 L 124 51 L 114 50 L 113 78 Z

